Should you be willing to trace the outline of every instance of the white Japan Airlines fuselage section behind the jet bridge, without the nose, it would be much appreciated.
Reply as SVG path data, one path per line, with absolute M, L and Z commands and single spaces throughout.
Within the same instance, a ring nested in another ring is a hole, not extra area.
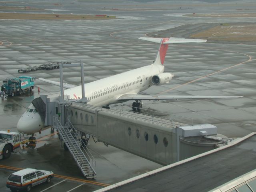
M 164 72 L 163 65 L 149 65 L 123 72 L 114 76 L 90 82 L 84 85 L 88 104 L 103 106 L 118 103 L 118 98 L 124 94 L 137 94 L 152 85 L 151 78 Z M 64 91 L 70 99 L 82 98 L 82 88 L 77 86 Z

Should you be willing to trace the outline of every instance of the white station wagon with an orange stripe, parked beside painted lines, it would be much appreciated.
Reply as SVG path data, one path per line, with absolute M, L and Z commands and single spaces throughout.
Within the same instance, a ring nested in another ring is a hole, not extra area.
M 10 174 L 6 182 L 6 186 L 13 192 L 17 190 L 30 191 L 32 186 L 38 185 L 42 182 L 49 183 L 53 176 L 54 173 L 52 171 L 28 168 Z

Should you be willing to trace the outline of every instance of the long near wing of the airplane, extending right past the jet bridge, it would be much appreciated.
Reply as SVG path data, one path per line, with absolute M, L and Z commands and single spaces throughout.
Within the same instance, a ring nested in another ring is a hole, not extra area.
M 240 98 L 243 96 L 196 96 L 196 95 L 138 95 L 125 94 L 118 98 L 119 101 L 125 100 L 172 100 L 172 99 L 215 99 L 215 98 Z

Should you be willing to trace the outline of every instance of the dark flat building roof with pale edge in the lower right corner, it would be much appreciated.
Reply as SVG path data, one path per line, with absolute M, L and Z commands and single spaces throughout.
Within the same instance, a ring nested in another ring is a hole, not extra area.
M 256 133 L 230 145 L 97 190 L 208 192 L 256 168 Z

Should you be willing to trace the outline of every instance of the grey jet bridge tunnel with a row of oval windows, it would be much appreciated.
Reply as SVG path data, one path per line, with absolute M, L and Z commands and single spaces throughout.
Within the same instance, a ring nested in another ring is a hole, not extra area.
M 225 136 L 217 136 L 214 125 L 189 126 L 170 118 L 149 115 L 154 113 L 150 110 L 142 110 L 148 113 L 142 114 L 122 106 L 108 109 L 85 103 L 67 104 L 65 110 L 66 118 L 76 130 L 93 136 L 96 141 L 163 165 L 227 142 Z M 207 138 L 208 135 L 211 137 Z

